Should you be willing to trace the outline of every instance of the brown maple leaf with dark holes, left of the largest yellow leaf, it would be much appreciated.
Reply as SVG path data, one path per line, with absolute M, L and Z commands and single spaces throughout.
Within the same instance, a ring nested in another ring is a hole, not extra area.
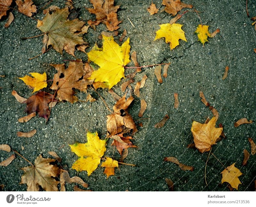
M 57 90 L 57 98 L 59 101 L 67 100 L 71 103 L 78 101 L 74 96 L 76 88 L 86 92 L 87 85 L 91 85 L 93 80 L 87 80 L 92 74 L 92 68 L 88 63 L 83 63 L 81 59 L 69 62 L 68 69 L 65 69 L 65 64 L 50 64 L 58 72 L 54 74 L 52 90 Z

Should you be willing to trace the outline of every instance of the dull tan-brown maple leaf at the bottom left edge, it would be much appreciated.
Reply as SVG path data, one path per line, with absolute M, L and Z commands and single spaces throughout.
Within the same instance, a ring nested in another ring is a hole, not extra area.
M 60 168 L 50 164 L 55 160 L 39 155 L 34 166 L 21 168 L 24 174 L 21 176 L 20 184 L 27 184 L 27 191 L 39 191 L 39 186 L 45 191 L 59 191 L 59 181 L 56 181 L 55 178 L 60 174 Z

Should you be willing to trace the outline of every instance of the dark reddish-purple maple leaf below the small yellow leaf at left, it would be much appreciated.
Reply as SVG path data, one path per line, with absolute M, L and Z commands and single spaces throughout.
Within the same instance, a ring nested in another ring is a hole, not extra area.
M 36 95 L 30 96 L 27 100 L 26 112 L 31 114 L 37 112 L 39 117 L 47 119 L 50 114 L 48 103 L 57 101 L 53 95 L 44 91 L 39 91 Z

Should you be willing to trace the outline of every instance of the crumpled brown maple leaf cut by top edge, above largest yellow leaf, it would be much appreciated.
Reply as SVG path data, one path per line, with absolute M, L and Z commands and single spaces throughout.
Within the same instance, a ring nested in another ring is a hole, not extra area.
M 96 15 L 96 21 L 89 21 L 90 25 L 99 25 L 104 23 L 109 31 L 114 31 L 119 28 L 121 21 L 117 19 L 117 10 L 120 5 L 114 6 L 114 0 L 90 0 L 92 8 L 86 8 L 90 13 Z M 88 24 L 89 24 L 88 22 Z

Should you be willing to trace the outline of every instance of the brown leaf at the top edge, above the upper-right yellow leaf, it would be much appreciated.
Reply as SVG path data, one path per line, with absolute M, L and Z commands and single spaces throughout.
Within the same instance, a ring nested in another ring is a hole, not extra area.
M 180 0 L 163 0 L 164 11 L 175 16 L 182 8 L 193 8 L 193 5 L 185 4 Z

